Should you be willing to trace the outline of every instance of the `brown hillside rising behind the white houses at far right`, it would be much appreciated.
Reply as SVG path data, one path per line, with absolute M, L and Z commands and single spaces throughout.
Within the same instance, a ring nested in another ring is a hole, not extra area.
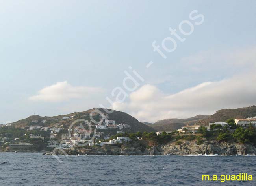
M 210 122 L 225 122 L 230 118 L 248 118 L 256 116 L 256 106 L 243 107 L 237 109 L 222 109 L 211 115 L 207 119 L 198 121 L 197 124 L 208 126 Z

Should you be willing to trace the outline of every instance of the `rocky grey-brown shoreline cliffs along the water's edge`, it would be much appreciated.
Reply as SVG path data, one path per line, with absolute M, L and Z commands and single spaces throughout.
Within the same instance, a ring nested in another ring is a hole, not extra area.
M 95 146 L 65 150 L 68 155 L 253 155 L 256 154 L 256 146 L 250 144 L 204 142 L 197 145 L 195 142 L 185 141 L 180 145 L 165 144 L 153 145 L 141 142 L 129 144 Z M 57 150 L 56 155 L 63 154 Z

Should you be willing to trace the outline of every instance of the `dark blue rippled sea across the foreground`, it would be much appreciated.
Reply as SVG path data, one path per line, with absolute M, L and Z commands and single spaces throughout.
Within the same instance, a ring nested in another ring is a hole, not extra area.
M 255 186 L 202 181 L 202 174 L 248 173 L 256 156 L 58 156 L 0 153 L 0 186 Z

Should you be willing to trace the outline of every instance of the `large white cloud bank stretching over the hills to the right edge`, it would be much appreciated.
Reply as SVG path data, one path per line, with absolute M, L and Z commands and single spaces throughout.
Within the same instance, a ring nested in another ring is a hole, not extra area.
M 256 47 L 226 53 L 200 52 L 183 58 L 182 62 L 200 66 L 205 64 L 203 67 L 207 68 L 208 65 L 209 71 L 211 65 L 208 63 L 212 63 L 216 69 L 226 66 L 226 71 L 233 68 L 235 73 L 232 72 L 233 75 L 223 80 L 203 82 L 174 94 L 163 93 L 156 86 L 146 84 L 131 93 L 128 102 L 115 102 L 113 109 L 126 111 L 141 121 L 156 122 L 166 118 L 212 115 L 219 109 L 256 104 Z M 216 71 L 211 73 L 216 74 Z M 223 75 L 225 77 L 225 73 Z

